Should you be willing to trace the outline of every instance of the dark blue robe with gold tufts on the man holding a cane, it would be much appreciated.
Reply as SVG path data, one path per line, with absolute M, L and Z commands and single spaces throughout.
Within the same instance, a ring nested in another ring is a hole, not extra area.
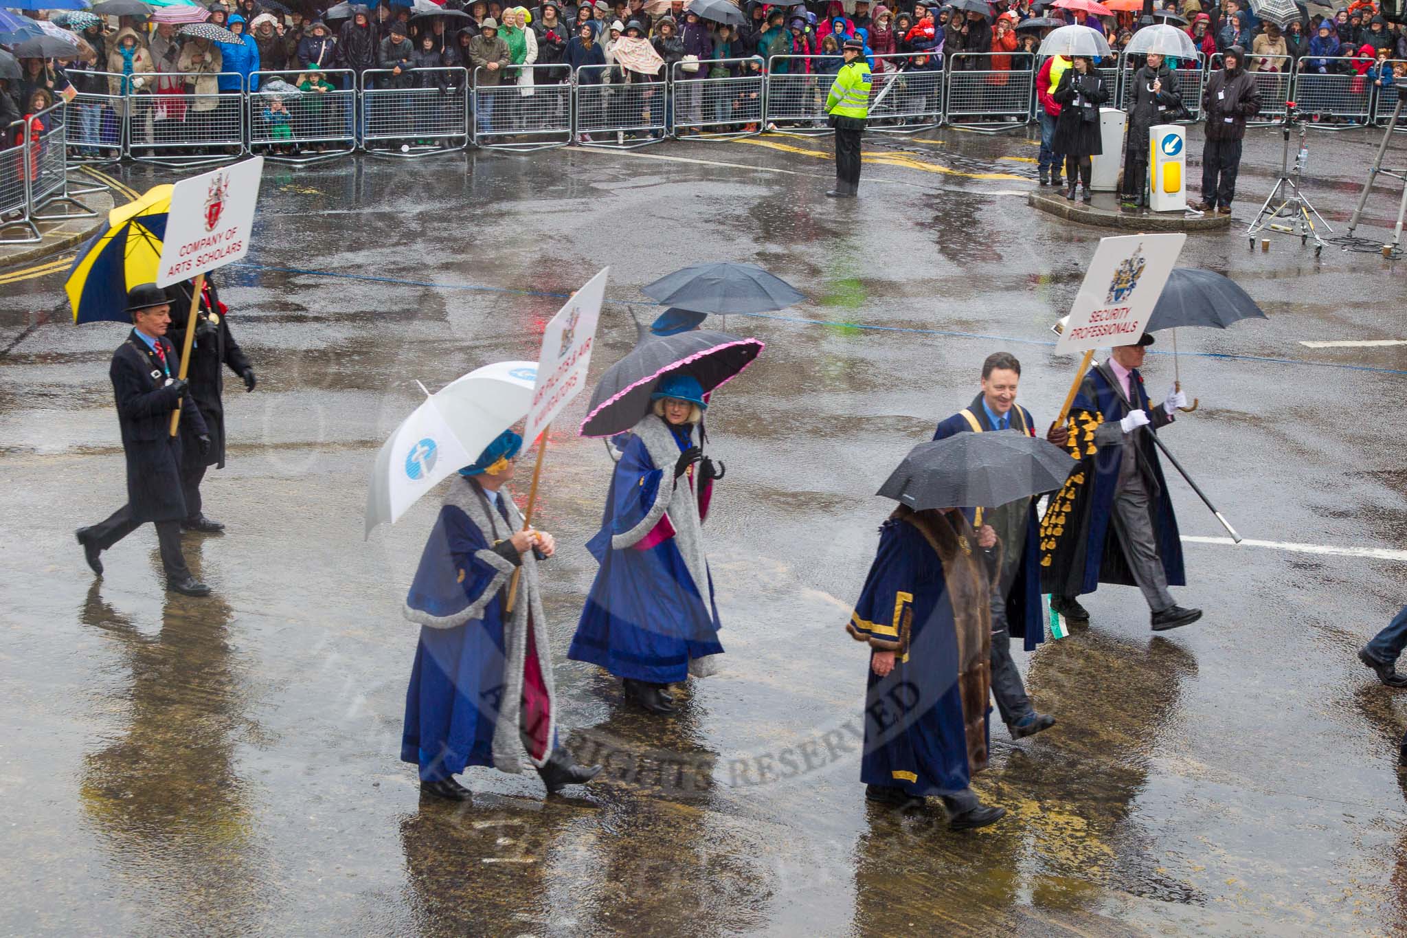
M 1117 423 L 1128 416 L 1130 404 L 1148 412 L 1152 423 L 1140 436 L 1138 460 L 1152 495 L 1152 527 L 1158 540 L 1158 557 L 1169 586 L 1188 582 L 1182 563 L 1182 537 L 1178 518 L 1172 510 L 1168 482 L 1152 442 L 1158 428 L 1172 423 L 1162 406 L 1151 406 L 1142 387 L 1142 375 L 1131 373 L 1134 401 L 1126 401 L 1121 388 L 1114 387 L 1104 366 L 1095 366 L 1079 385 L 1069 412 L 1069 449 L 1079 463 L 1065 487 L 1051 496 L 1040 526 L 1041 581 L 1045 592 L 1076 596 L 1095 592 L 1099 584 L 1137 586 L 1133 571 L 1112 525 L 1114 491 L 1119 487 L 1119 467 L 1123 446 L 1096 446 L 1095 430 L 1103 423 Z

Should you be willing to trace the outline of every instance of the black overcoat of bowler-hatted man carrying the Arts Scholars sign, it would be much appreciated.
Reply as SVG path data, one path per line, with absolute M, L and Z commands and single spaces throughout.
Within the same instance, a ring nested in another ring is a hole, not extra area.
M 158 339 L 166 350 L 166 363 L 146 347 L 134 329 L 127 342 L 113 353 L 108 377 L 117 401 L 117 420 L 122 428 L 122 450 L 127 454 L 127 503 L 135 522 L 172 522 L 186 518 L 186 499 L 180 487 L 179 437 L 170 435 L 176 392 L 166 387 L 166 371 L 179 371 L 176 347 L 169 339 Z M 205 432 L 205 420 L 191 404 L 182 398 L 182 425 L 190 425 L 197 436 Z

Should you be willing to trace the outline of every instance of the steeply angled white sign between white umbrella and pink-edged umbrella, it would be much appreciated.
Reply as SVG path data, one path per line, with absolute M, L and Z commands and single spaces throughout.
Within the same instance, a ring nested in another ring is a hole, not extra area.
M 529 446 L 561 408 L 587 387 L 587 368 L 591 366 L 591 349 L 597 343 L 597 322 L 601 321 L 601 302 L 606 295 L 609 276 L 611 269 L 606 267 L 571 294 L 571 300 L 542 333 L 537 384 L 532 392 L 528 423 L 523 426 L 523 439 Z

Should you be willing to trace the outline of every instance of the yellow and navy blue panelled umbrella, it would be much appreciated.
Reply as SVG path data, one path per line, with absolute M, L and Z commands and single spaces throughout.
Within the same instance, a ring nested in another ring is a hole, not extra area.
M 127 291 L 156 280 L 170 207 L 172 187 L 156 186 L 107 214 L 107 225 L 79 249 L 63 283 L 73 322 L 131 322 Z

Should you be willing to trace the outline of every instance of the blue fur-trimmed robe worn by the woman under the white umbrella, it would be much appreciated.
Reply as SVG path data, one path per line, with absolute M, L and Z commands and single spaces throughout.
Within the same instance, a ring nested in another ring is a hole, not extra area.
M 540 765 L 556 747 L 546 640 L 533 634 L 537 623 L 530 612 L 519 613 L 528 630 L 523 641 L 505 640 L 505 585 L 514 564 L 492 551 L 490 541 L 490 536 L 502 540 L 519 529 L 521 515 L 507 489 L 499 492 L 507 499 L 499 510 L 490 508 L 471 482 L 454 478 L 450 487 L 405 599 L 407 617 L 425 624 L 405 692 L 401 759 L 415 762 L 426 782 L 457 775 L 469 765 L 516 771 L 511 759 L 505 764 L 502 751 L 521 751 L 519 745 Z M 456 498 L 459 505 L 452 503 Z M 478 505 L 477 499 L 484 501 Z M 471 512 L 491 529 L 487 536 Z M 504 513 L 512 513 L 518 523 L 511 525 Z M 536 574 L 529 582 L 525 571 L 518 592 L 525 612 L 540 603 L 530 595 L 535 589 Z M 509 699 L 519 685 L 521 699 Z M 499 728 L 504 710 L 511 730 Z M 502 731 L 519 731 L 523 743 L 498 740 L 495 759 L 495 735 Z

